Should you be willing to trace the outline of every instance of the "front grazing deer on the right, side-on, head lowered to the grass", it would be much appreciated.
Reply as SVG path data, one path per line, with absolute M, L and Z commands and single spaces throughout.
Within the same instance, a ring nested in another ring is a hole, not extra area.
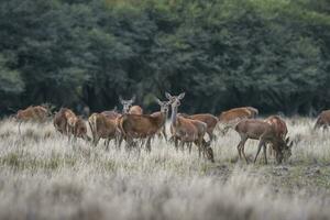
M 263 147 L 265 163 L 267 164 L 267 143 L 273 144 L 273 150 L 276 152 L 277 163 L 282 163 L 283 158 L 286 161 L 292 155 L 293 143 L 288 144 L 288 140 L 284 141 L 279 138 L 273 124 L 256 119 L 244 119 L 240 121 L 234 129 L 241 136 L 241 141 L 238 145 L 239 156 L 242 158 L 243 155 L 246 163 L 249 163 L 249 161 L 244 153 L 244 145 L 248 139 L 260 140 L 254 163 L 256 162 L 261 147 Z

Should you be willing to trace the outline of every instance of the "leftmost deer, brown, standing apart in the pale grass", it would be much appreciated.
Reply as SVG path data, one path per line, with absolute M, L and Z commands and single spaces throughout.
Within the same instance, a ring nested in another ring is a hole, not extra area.
M 42 106 L 30 106 L 24 110 L 19 110 L 15 119 L 19 121 L 19 133 L 21 133 L 22 122 L 45 122 L 48 117 L 48 110 Z

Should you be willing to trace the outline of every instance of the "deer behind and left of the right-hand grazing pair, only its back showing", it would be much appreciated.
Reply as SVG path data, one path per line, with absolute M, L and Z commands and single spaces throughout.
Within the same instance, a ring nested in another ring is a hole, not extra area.
M 254 119 L 257 114 L 257 109 L 253 107 L 234 108 L 221 112 L 219 116 L 219 125 L 223 125 L 222 134 L 224 135 L 229 129 L 233 128 L 242 119 Z

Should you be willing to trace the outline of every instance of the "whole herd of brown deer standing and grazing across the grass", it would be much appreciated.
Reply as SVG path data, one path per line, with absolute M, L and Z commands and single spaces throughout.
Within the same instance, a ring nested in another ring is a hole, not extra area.
M 267 164 L 267 147 L 271 156 L 275 157 L 277 163 L 287 161 L 292 155 L 293 142 L 287 136 L 288 130 L 285 121 L 278 116 L 271 116 L 265 120 L 256 119 L 258 111 L 253 107 L 234 108 L 221 112 L 219 117 L 210 113 L 186 114 L 178 113 L 185 92 L 178 96 L 165 94 L 167 100 L 161 101 L 155 98 L 160 106 L 160 111 L 145 114 L 140 106 L 133 106 L 135 97 L 120 102 L 123 106 L 122 113 L 116 109 L 92 113 L 88 121 L 76 116 L 70 109 L 61 108 L 55 113 L 53 124 L 61 134 L 68 136 L 68 141 L 76 141 L 78 138 L 92 143 L 97 146 L 101 139 L 105 140 L 106 148 L 109 148 L 110 141 L 114 142 L 117 148 L 121 148 L 122 142 L 125 142 L 125 148 L 152 151 L 152 141 L 157 135 L 160 139 L 172 143 L 176 150 L 188 148 L 191 152 L 193 144 L 197 146 L 199 156 L 215 162 L 212 142 L 217 139 L 215 130 L 218 128 L 223 135 L 229 129 L 237 131 L 240 135 L 240 142 L 237 146 L 239 158 L 249 158 L 244 153 L 244 145 L 249 139 L 258 140 L 257 152 L 254 163 L 257 160 L 260 151 L 263 148 L 264 161 Z M 166 121 L 170 109 L 170 138 L 166 133 Z M 47 120 L 50 111 L 45 107 L 29 107 L 25 110 L 19 110 L 15 118 L 19 121 L 19 132 L 22 122 L 35 121 L 43 122 Z M 88 135 L 87 125 L 90 129 L 91 138 Z M 327 129 L 330 125 L 330 110 L 322 111 L 315 124 L 315 129 Z M 140 146 L 139 146 L 140 145 Z

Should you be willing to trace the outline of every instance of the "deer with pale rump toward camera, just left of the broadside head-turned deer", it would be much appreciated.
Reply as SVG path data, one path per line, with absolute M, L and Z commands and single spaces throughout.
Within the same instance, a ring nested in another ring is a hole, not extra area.
M 118 136 L 116 119 L 109 119 L 103 113 L 92 113 L 88 118 L 88 123 L 92 134 L 94 145 L 97 146 L 100 139 L 106 139 L 106 148 L 108 150 L 110 141 L 116 140 Z

